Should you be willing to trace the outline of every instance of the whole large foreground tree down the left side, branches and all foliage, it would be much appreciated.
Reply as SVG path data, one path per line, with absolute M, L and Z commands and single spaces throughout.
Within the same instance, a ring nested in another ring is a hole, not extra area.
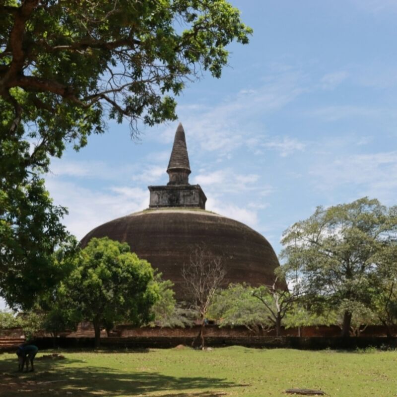
M 0 1 L 0 295 L 13 306 L 54 285 L 65 238 L 40 175 L 108 118 L 174 120 L 202 70 L 219 77 L 226 46 L 251 29 L 225 0 Z M 47 278 L 45 274 L 49 275 Z M 9 290 L 15 285 L 13 290 Z M 27 286 L 27 288 L 25 288 Z

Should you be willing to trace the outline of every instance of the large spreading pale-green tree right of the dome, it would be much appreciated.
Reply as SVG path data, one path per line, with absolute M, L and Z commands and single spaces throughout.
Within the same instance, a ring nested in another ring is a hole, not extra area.
M 306 299 L 343 307 L 343 336 L 351 331 L 355 308 L 370 304 L 379 269 L 377 254 L 396 239 L 396 214 L 396 207 L 363 198 L 318 207 L 283 234 L 284 266 L 299 273 Z

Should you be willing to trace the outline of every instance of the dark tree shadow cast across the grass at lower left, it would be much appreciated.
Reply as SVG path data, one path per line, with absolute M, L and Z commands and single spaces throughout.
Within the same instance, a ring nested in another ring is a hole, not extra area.
M 36 372 L 16 372 L 17 362 L 0 361 L 0 396 L 135 396 L 156 393 L 158 397 L 220 397 L 225 389 L 243 387 L 216 377 L 174 377 L 158 372 L 122 372 L 113 368 L 85 366 L 80 360 L 35 361 Z M 73 367 L 73 364 L 79 364 Z M 191 391 L 189 390 L 199 390 Z M 161 392 L 164 392 L 162 394 Z

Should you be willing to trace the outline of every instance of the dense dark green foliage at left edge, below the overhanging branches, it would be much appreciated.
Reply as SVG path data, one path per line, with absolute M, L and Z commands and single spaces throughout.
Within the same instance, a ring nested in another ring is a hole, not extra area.
M 65 213 L 53 205 L 43 180 L 0 179 L 0 295 L 10 307 L 29 309 L 64 276 L 54 250 L 75 246 L 60 222 Z

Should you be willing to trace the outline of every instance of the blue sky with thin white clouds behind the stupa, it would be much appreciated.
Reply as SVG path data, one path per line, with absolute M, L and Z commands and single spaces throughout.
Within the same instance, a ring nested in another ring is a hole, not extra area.
M 207 209 L 262 233 L 278 254 L 289 225 L 363 196 L 396 204 L 397 2 L 233 0 L 254 29 L 230 46 L 230 67 L 178 98 L 191 183 Z M 78 238 L 148 206 L 165 184 L 178 122 L 109 123 L 55 160 L 47 187 Z

